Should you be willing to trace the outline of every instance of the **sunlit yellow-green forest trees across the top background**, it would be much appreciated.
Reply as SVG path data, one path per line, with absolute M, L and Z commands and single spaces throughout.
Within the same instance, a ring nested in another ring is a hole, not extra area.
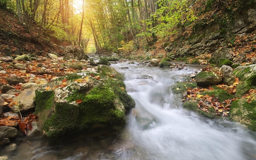
M 195 2 L 204 5 L 193 11 Z M 233 2 L 234 1 L 234 2 Z M 157 40 L 181 35 L 184 27 L 210 9 L 237 11 L 236 0 L 0 0 L 0 7 L 17 16 L 32 37 L 45 33 L 81 46 L 86 52 L 118 52 L 146 48 Z M 232 8 L 233 7 L 233 8 Z M 210 19 L 208 20 L 210 21 Z M 140 42 L 145 42 L 139 45 Z M 93 45 L 93 47 L 92 47 Z M 126 48 L 127 49 L 127 48 Z

